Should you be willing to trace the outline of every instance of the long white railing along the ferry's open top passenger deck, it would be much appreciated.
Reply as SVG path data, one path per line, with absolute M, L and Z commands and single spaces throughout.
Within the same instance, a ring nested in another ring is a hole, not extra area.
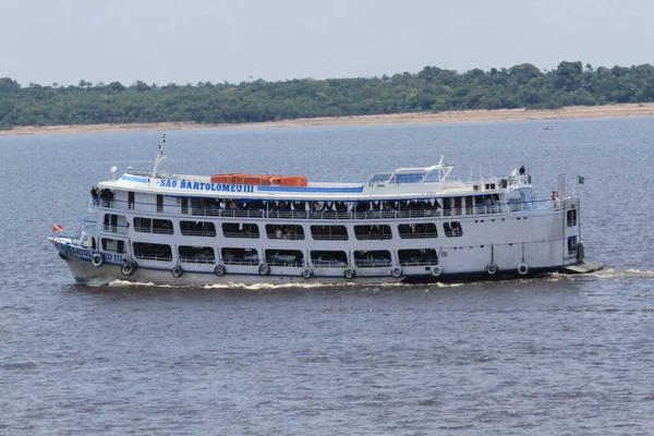
M 93 198 L 92 202 L 93 204 Z M 413 219 L 413 218 L 438 218 L 450 216 L 488 215 L 501 213 L 520 213 L 525 210 L 560 209 L 579 204 L 579 197 L 569 196 L 558 199 L 538 201 L 509 201 L 508 203 L 492 203 L 483 205 L 462 205 L 460 207 L 440 206 L 431 208 L 402 208 L 393 210 L 266 210 L 266 209 L 234 209 L 215 207 L 183 207 L 179 204 L 154 204 L 135 203 L 119 199 L 101 201 L 98 207 L 114 210 L 143 211 L 147 214 L 161 214 L 174 216 L 207 216 L 207 217 L 233 217 L 233 218 L 258 218 L 258 219 L 286 219 L 286 220 L 376 220 L 376 219 Z M 138 231 L 138 230 L 137 230 Z M 146 230 L 143 230 L 146 231 Z M 153 231 L 157 232 L 157 231 Z M 161 231 L 165 233 L 166 231 Z

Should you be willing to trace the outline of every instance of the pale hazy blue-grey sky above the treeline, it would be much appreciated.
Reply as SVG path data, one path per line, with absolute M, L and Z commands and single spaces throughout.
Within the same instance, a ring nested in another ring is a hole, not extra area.
M 653 19 L 645 0 L 0 0 L 0 77 L 164 85 L 630 66 L 652 63 Z

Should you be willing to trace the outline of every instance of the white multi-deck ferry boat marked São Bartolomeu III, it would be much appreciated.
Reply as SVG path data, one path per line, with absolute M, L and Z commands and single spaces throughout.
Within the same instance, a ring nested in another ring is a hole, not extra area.
M 153 171 L 117 180 L 112 168 L 92 189 L 76 234 L 48 238 L 78 282 L 428 282 L 598 268 L 583 262 L 579 196 L 537 199 L 522 170 L 456 181 L 441 158 L 364 183 L 165 174 L 165 143 Z

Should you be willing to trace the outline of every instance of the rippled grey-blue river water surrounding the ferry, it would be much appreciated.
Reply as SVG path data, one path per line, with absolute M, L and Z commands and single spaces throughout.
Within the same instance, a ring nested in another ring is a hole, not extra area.
M 167 133 L 178 173 L 364 181 L 444 154 L 462 178 L 524 165 L 548 197 L 566 172 L 606 269 L 77 286 L 50 227 L 74 231 L 112 166 L 150 169 L 160 134 L 0 136 L 0 434 L 654 434 L 654 119 Z

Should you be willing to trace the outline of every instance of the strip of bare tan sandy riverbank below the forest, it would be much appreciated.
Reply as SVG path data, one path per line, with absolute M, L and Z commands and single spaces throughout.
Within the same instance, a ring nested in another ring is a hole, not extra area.
M 497 110 L 463 110 L 439 113 L 393 113 L 360 117 L 332 118 L 301 118 L 243 124 L 196 124 L 187 122 L 134 123 L 134 124 L 84 124 L 84 125 L 48 125 L 19 126 L 0 131 L 0 135 L 38 135 L 38 134 L 70 134 L 70 133 L 108 133 L 175 130 L 216 130 L 216 129 L 269 129 L 296 126 L 330 126 L 330 125 L 382 125 L 382 124 L 438 124 L 459 122 L 486 121 L 520 121 L 520 120 L 564 120 L 589 118 L 621 118 L 651 117 L 654 114 L 654 104 L 623 104 L 609 106 L 573 106 L 562 109 L 497 109 Z

